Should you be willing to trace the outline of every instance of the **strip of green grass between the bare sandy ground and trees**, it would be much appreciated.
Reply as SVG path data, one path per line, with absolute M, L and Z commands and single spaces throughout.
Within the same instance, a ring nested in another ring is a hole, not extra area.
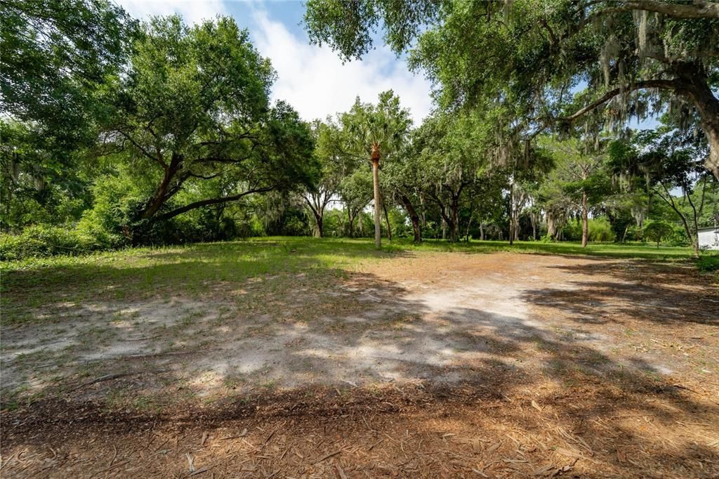
M 427 240 L 413 245 L 408 239 L 384 242 L 375 250 L 370 239 L 315 239 L 267 237 L 247 241 L 195 245 L 132 248 L 87 256 L 58 256 L 0 263 L 2 323 L 29 320 L 50 308 L 47 316 L 73 311 L 83 301 L 126 301 L 128 299 L 201 297 L 216 288 L 245 283 L 249 278 L 282 275 L 278 282 L 262 288 L 293 287 L 293 275 L 303 273 L 312 283 L 332 284 L 347 278 L 359 263 L 400 257 L 412 252 L 456 251 L 490 253 L 512 251 L 543 255 L 592 255 L 602 257 L 686 260 L 686 247 L 651 245 L 472 241 L 451 244 Z M 716 255 L 702 259 L 705 270 Z M 54 309 L 54 310 L 53 310 Z M 54 311 L 54 312 L 53 312 Z

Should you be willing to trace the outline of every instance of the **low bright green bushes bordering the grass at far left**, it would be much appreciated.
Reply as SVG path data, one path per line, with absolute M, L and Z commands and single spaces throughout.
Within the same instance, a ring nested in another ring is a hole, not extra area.
M 0 234 L 0 260 L 80 255 L 111 247 L 114 243 L 108 234 L 47 225 L 27 227 L 21 234 Z

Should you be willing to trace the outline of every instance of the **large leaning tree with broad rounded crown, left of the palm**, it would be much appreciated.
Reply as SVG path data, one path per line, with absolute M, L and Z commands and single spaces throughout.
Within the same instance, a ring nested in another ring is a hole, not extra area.
M 136 48 L 108 94 L 104 148 L 130 155 L 153 185 L 137 225 L 309 182 L 308 125 L 287 104 L 269 105 L 275 72 L 233 19 L 155 18 Z

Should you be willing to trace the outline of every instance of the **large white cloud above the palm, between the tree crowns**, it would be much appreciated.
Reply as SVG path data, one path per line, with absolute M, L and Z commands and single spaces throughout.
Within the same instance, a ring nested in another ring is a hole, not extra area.
M 375 102 L 380 92 L 389 89 L 411 110 L 415 124 L 429 114 L 429 81 L 409 72 L 406 63 L 387 47 L 377 47 L 362 61 L 342 65 L 329 47 L 308 45 L 264 10 L 255 10 L 254 20 L 257 27 L 250 32 L 257 50 L 278 71 L 273 97 L 288 101 L 303 119 L 324 119 L 347 111 L 358 95 L 362 101 Z

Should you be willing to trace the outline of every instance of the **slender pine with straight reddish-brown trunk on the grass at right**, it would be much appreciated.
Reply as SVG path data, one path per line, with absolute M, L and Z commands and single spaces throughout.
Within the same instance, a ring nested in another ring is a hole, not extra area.
M 557 183 L 560 194 L 579 209 L 582 216 L 582 247 L 589 241 L 589 207 L 608 194 L 608 178 L 603 175 L 606 154 L 577 138 L 547 140 L 546 149 L 554 156 L 554 170 L 547 181 Z

